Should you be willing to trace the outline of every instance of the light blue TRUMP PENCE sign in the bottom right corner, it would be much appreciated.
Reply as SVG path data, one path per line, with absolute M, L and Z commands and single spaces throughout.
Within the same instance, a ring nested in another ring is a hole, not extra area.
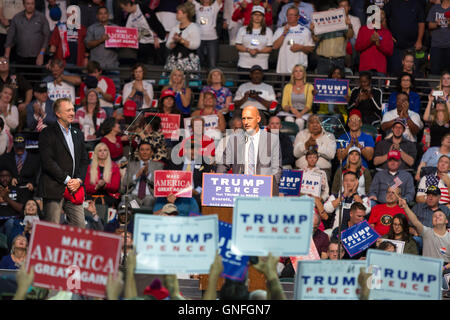
M 370 300 L 441 300 L 443 260 L 369 249 Z

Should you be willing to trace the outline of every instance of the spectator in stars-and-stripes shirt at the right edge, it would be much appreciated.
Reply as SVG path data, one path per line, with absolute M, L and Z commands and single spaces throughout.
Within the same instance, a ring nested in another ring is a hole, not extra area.
M 439 158 L 436 173 L 423 176 L 417 187 L 416 202 L 424 203 L 427 195 L 428 187 L 435 186 L 441 191 L 440 204 L 450 205 L 450 197 L 448 189 L 450 187 L 450 158 L 443 155 Z

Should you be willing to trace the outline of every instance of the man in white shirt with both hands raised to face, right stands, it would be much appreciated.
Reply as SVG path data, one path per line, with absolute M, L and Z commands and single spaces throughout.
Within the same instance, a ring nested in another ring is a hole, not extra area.
M 405 92 L 397 93 L 396 109 L 386 112 L 381 120 L 381 129 L 386 132 L 387 137 L 392 134 L 392 126 L 397 118 L 406 119 L 406 130 L 403 136 L 409 141 L 416 142 L 416 135 L 423 128 L 420 115 L 409 109 L 409 97 Z

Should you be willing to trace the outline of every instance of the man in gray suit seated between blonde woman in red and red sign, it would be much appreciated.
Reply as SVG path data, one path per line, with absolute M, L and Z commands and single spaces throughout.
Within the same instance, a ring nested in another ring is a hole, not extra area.
M 164 166 L 161 162 L 151 160 L 153 152 L 150 143 L 141 142 L 138 147 L 139 160 L 129 164 L 128 180 L 127 174 L 125 174 L 122 181 L 121 192 L 125 193 L 129 186 L 129 200 L 136 200 L 143 207 L 153 207 L 155 203 L 153 196 L 154 171 L 162 170 Z M 123 197 L 122 202 L 124 201 Z

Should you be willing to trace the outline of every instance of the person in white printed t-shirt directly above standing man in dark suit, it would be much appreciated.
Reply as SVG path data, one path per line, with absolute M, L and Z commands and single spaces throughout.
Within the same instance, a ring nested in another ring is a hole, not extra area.
M 60 98 L 69 98 L 75 104 L 75 86 L 81 84 L 81 78 L 77 75 L 64 74 L 64 61 L 53 58 L 48 63 L 51 76 L 45 77 L 47 82 L 48 97 L 52 101 Z

